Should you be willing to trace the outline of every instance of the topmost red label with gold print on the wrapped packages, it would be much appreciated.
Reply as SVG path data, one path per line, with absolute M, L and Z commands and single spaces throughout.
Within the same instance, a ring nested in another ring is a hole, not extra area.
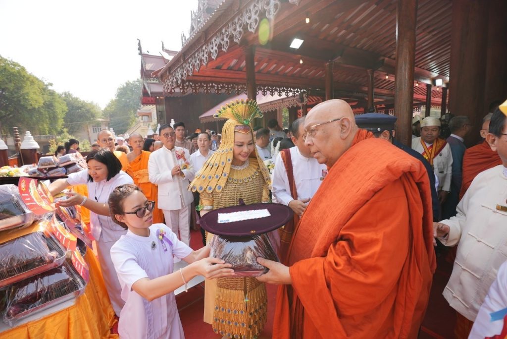
M 49 189 L 37 179 L 19 178 L 18 190 L 26 207 L 33 213 L 43 215 L 54 211 L 53 197 Z

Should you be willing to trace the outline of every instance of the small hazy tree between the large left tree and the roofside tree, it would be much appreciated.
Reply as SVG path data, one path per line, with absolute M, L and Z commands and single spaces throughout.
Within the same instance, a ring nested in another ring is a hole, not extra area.
M 84 101 L 69 92 L 61 93 L 61 96 L 67 105 L 64 125 L 70 134 L 78 132 L 84 128 L 85 123 L 93 122 L 101 116 L 97 104 Z

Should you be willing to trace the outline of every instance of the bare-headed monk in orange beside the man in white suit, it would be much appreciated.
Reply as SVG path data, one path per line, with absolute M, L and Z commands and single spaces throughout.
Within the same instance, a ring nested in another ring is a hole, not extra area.
M 127 154 L 129 161 L 129 168 L 127 168 L 127 174 L 132 177 L 134 184 L 136 184 L 148 200 L 155 201 L 155 209 L 153 210 L 153 221 L 152 223 L 163 223 L 164 214 L 162 210 L 158 208 L 157 195 L 158 186 L 150 182 L 148 177 L 148 160 L 150 159 L 150 152 L 143 151 L 142 147 L 144 141 L 142 135 L 139 133 L 132 133 L 130 135 L 130 145 L 132 146 L 132 152 Z

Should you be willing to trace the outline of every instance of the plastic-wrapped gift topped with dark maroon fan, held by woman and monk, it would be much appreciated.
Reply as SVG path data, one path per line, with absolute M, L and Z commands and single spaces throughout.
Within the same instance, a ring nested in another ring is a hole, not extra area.
M 259 277 L 269 269 L 257 258 L 279 261 L 276 229 L 292 217 L 292 210 L 281 204 L 238 205 L 208 212 L 200 224 L 214 234 L 211 257 L 232 264 L 234 276 Z

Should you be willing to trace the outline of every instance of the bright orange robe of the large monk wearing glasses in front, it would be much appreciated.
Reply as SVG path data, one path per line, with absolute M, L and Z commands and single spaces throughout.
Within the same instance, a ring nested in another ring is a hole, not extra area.
M 273 338 L 416 338 L 436 267 L 423 164 L 359 130 L 288 253 Z

